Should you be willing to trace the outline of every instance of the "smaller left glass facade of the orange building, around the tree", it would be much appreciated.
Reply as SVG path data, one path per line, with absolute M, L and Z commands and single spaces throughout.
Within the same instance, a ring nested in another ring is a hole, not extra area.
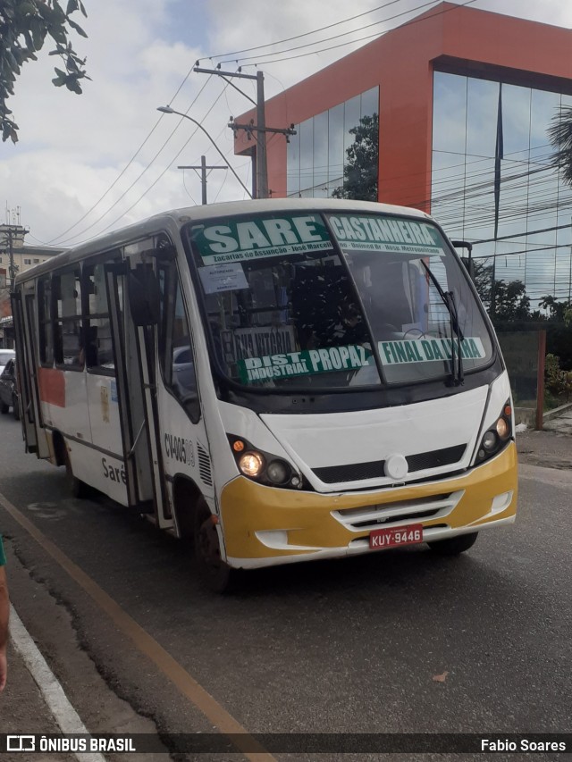
M 379 88 L 371 88 L 345 103 L 302 121 L 290 137 L 287 159 L 287 195 L 294 197 L 329 198 L 344 188 L 352 159 L 356 130 L 374 128 L 367 132 L 369 141 L 366 170 L 370 184 L 377 183 L 379 129 Z M 371 175 L 374 175 L 373 179 Z

